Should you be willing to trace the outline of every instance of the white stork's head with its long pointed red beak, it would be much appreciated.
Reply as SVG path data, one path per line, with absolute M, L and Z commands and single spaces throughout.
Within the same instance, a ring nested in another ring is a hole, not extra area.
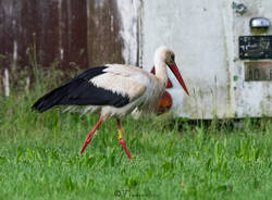
M 160 62 L 164 62 L 175 75 L 177 82 L 183 89 L 189 95 L 187 87 L 182 78 L 178 67 L 175 64 L 175 53 L 166 47 L 159 47 L 154 52 L 154 65 L 160 65 Z

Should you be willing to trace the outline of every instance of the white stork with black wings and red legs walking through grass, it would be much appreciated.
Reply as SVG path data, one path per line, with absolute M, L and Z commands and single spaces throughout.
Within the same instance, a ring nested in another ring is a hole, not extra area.
M 54 105 L 69 105 L 66 110 L 79 109 L 85 113 L 99 113 L 100 118 L 87 135 L 81 154 L 101 122 L 114 116 L 118 123 L 119 142 L 128 159 L 132 159 L 123 139 L 120 117 L 134 110 L 149 114 L 156 109 L 166 87 L 166 65 L 189 95 L 175 64 L 173 51 L 166 47 L 158 48 L 153 64 L 156 75 L 139 67 L 123 64 L 91 67 L 38 99 L 32 109 L 42 113 Z

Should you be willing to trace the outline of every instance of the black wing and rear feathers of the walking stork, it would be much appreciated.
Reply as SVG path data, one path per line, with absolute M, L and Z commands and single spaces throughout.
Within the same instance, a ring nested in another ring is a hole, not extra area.
M 113 105 L 116 108 L 129 103 L 129 98 L 95 86 L 90 78 L 103 74 L 108 66 L 89 68 L 72 78 L 67 84 L 53 89 L 37 100 L 33 110 L 45 112 L 54 105 Z

